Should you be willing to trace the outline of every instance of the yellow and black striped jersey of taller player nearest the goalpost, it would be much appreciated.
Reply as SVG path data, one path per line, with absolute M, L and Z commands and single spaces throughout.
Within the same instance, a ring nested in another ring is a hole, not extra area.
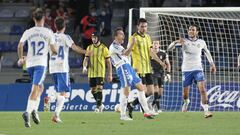
M 132 37 L 136 38 L 136 43 L 132 49 L 132 66 L 138 74 L 145 75 L 151 73 L 152 67 L 150 62 L 150 48 L 152 46 L 152 40 L 148 34 L 140 35 L 134 33 Z M 131 41 L 130 41 L 131 42 Z

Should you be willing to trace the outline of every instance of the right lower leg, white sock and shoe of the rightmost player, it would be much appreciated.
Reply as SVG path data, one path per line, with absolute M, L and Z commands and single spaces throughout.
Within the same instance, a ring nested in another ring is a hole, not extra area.
M 207 97 L 207 92 L 205 88 L 205 81 L 200 81 L 197 83 L 198 90 L 201 94 L 201 106 L 203 107 L 204 110 L 204 117 L 209 118 L 212 117 L 212 113 L 208 111 L 208 97 Z

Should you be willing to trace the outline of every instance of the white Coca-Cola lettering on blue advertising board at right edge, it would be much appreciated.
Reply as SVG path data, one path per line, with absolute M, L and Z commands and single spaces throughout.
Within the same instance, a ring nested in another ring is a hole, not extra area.
M 240 91 L 221 88 L 221 85 L 216 85 L 208 90 L 209 107 L 240 108 Z

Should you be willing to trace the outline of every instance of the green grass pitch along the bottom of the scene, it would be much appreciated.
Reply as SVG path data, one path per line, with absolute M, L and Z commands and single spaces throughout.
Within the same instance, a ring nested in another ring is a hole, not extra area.
M 63 112 L 64 123 L 51 121 L 52 113 L 41 112 L 40 125 L 25 128 L 20 112 L 0 112 L 0 135 L 239 135 L 239 112 L 163 112 L 153 120 L 134 112 L 133 121 L 119 120 L 119 113 Z

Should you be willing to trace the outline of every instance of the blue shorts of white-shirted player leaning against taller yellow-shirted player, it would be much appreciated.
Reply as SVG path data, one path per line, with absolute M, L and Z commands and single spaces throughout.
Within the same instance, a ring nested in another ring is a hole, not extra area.
M 121 82 L 121 87 L 135 86 L 141 79 L 129 64 L 124 64 L 117 68 L 117 75 Z

